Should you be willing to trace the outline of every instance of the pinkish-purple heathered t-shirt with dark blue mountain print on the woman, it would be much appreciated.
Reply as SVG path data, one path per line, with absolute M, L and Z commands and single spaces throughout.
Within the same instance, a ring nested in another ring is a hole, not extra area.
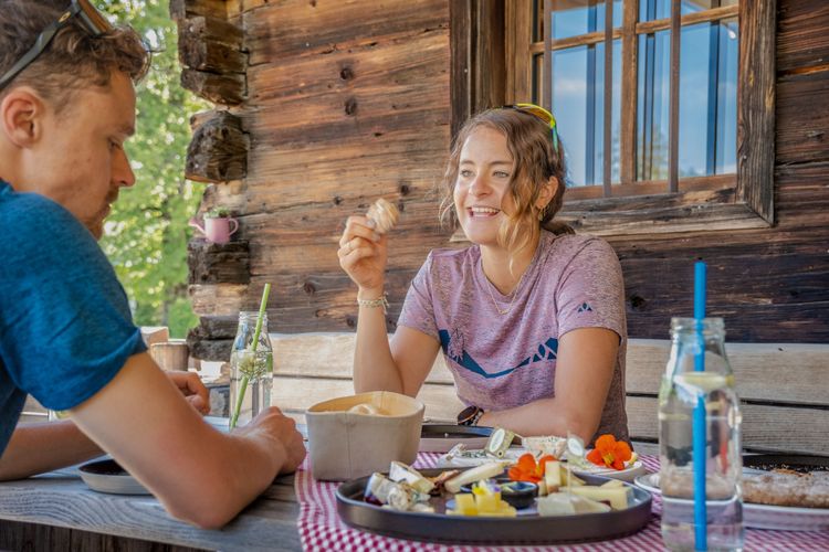
M 619 354 L 596 436 L 628 440 L 625 285 L 619 259 L 604 240 L 543 231 L 514 297 L 486 279 L 478 245 L 434 250 L 411 283 L 398 325 L 438 339 L 458 396 L 485 411 L 555 396 L 563 335 L 577 328 L 615 331 Z

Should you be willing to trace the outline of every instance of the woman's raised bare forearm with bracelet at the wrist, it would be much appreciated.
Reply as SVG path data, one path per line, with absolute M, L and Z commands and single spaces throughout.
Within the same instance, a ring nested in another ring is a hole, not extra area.
M 382 291 L 360 290 L 359 299 L 377 299 Z M 359 307 L 357 343 L 354 350 L 354 389 L 367 391 L 403 392 L 400 370 L 391 357 L 386 332 L 386 312 L 380 307 Z

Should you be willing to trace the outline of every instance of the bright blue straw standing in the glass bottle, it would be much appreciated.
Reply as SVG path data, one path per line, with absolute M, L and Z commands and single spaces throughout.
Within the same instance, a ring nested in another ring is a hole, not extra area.
M 705 338 L 703 319 L 705 318 L 705 263 L 694 264 L 694 318 L 700 343 L 694 358 L 694 371 L 705 371 Z M 693 418 L 693 460 L 694 460 L 694 548 L 707 550 L 707 505 L 705 503 L 705 397 L 696 400 Z

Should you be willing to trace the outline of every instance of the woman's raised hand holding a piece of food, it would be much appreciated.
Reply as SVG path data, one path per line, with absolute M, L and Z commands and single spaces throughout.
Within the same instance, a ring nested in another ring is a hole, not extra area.
M 349 216 L 339 238 L 339 266 L 360 290 L 382 293 L 388 236 L 379 234 L 372 220 L 366 216 Z M 374 298 L 374 297 L 372 297 Z

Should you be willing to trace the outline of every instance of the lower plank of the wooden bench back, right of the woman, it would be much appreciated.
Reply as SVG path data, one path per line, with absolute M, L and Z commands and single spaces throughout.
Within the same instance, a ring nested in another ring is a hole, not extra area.
M 658 438 L 655 397 L 628 396 L 626 410 L 632 439 Z M 741 410 L 745 449 L 829 456 L 829 410 L 758 404 L 743 404 Z

